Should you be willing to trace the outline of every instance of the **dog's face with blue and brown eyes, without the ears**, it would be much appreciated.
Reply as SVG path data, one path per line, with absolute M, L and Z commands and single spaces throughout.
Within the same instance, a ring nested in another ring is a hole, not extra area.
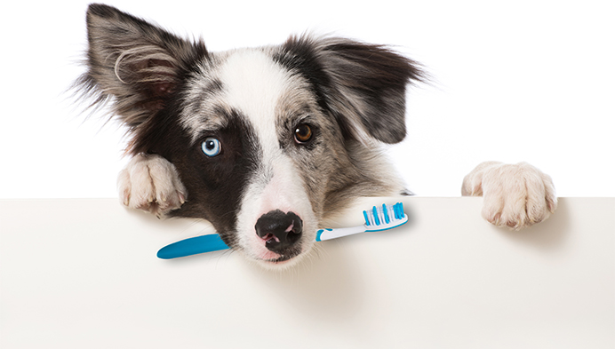
M 271 54 L 212 54 L 187 79 L 182 136 L 170 135 L 171 148 L 159 152 L 190 195 L 177 213 L 206 217 L 230 246 L 280 264 L 311 248 L 326 178 L 343 149 L 339 125 L 323 115 L 306 79 Z

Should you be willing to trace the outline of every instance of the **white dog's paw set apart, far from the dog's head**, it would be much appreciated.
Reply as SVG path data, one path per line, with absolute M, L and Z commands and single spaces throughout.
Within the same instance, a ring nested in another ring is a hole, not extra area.
M 461 194 L 482 195 L 483 218 L 516 230 L 547 219 L 557 208 L 553 181 L 529 163 L 481 163 L 463 179 Z

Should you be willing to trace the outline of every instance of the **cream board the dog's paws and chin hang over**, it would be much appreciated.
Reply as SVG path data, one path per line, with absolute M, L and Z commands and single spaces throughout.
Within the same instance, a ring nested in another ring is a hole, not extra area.
M 0 347 L 615 347 L 615 199 L 562 198 L 523 232 L 481 201 L 404 198 L 410 224 L 320 242 L 286 273 L 157 259 L 207 225 L 116 200 L 0 201 Z

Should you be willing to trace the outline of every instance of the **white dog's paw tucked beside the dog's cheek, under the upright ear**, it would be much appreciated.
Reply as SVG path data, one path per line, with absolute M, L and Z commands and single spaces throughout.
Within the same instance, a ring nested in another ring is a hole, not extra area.
M 117 178 L 120 200 L 158 218 L 186 202 L 188 191 L 175 166 L 160 155 L 136 155 Z

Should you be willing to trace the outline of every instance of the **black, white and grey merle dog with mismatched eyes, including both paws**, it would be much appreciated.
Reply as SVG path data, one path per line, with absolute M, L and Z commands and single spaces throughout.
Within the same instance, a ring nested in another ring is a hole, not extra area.
M 127 127 L 124 205 L 203 218 L 268 268 L 307 255 L 315 232 L 361 196 L 409 194 L 380 146 L 401 142 L 419 64 L 377 44 L 291 36 L 209 52 L 104 4 L 88 8 L 87 72 L 76 85 Z M 497 226 L 538 223 L 557 204 L 527 163 L 482 163 L 462 194 Z

